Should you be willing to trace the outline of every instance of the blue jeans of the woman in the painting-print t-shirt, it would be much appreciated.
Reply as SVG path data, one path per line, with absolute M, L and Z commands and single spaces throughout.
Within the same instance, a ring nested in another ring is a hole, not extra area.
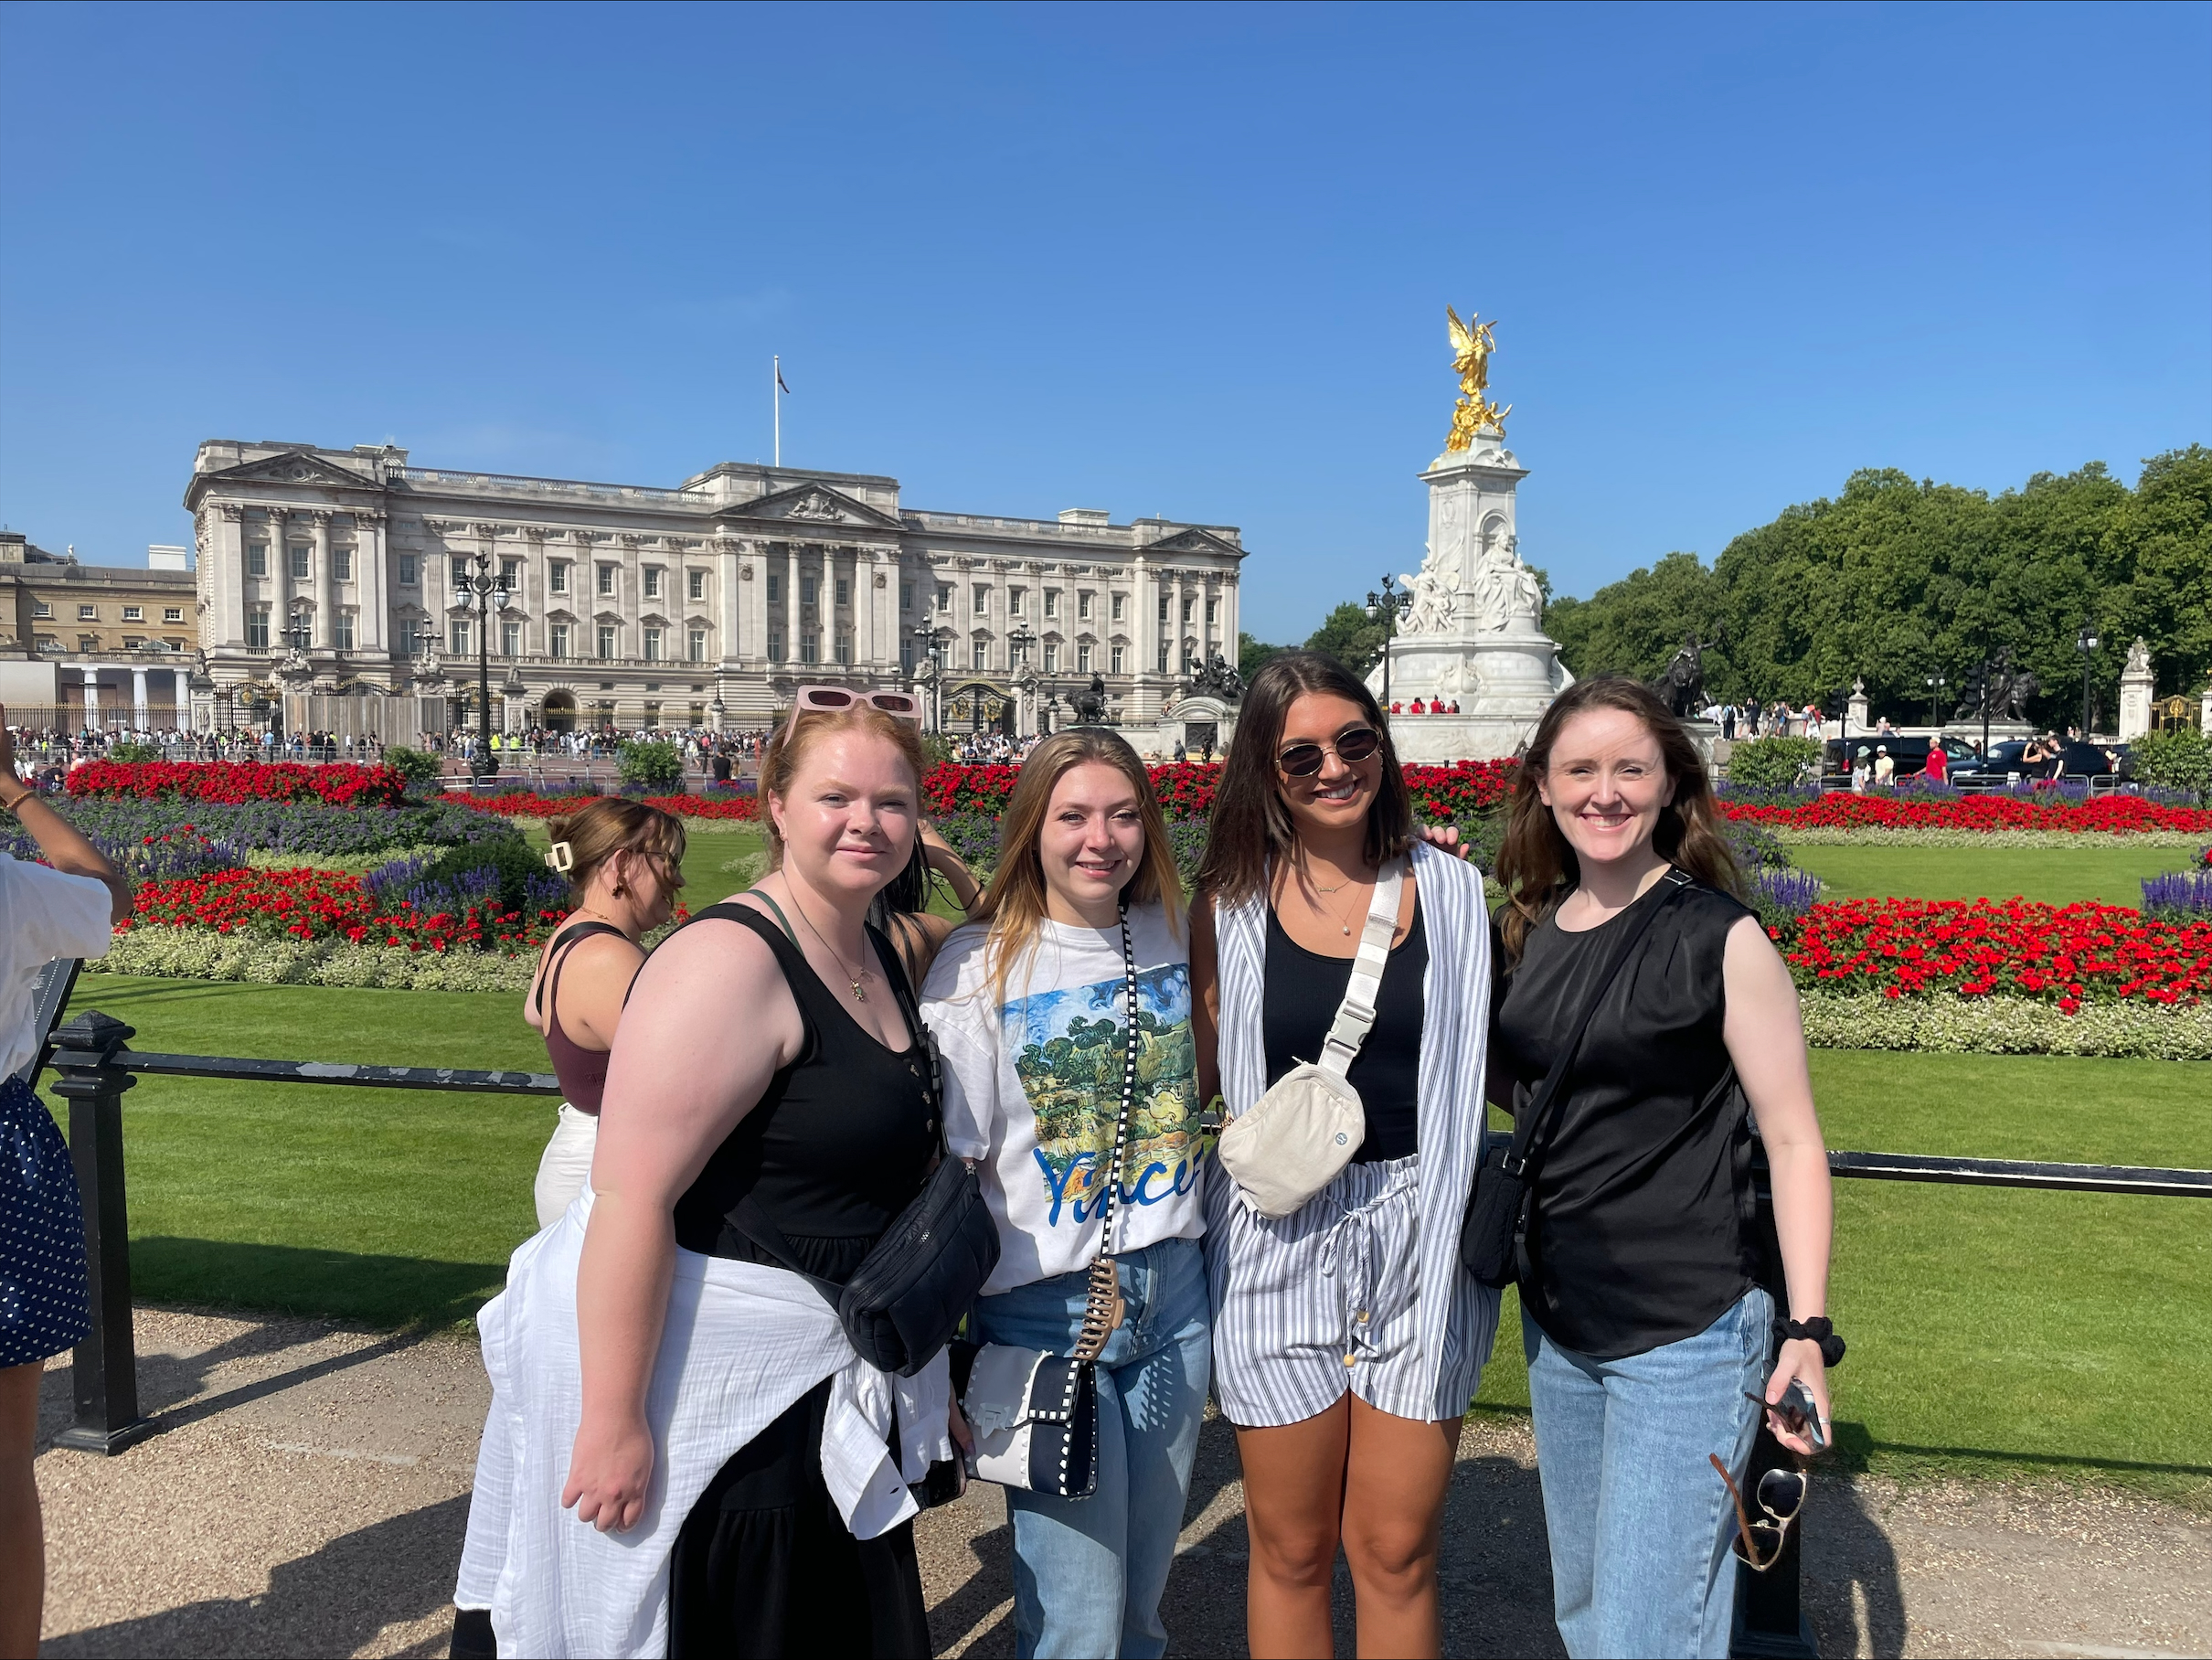
M 1168 1649 L 1159 1596 L 1175 1567 L 1212 1368 L 1206 1262 L 1197 1239 L 1119 1259 L 1121 1328 L 1099 1355 L 1099 1485 L 1088 1498 L 1006 1490 L 1013 1509 L 1015 1653 L 1155 1660 Z M 1066 1355 L 1084 1324 L 1086 1275 L 975 1301 L 975 1339 Z

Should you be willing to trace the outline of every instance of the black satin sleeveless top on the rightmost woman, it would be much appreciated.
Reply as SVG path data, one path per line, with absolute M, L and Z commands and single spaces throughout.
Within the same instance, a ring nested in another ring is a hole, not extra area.
M 1557 919 L 1528 932 L 1491 1038 L 1515 1107 L 1575 1029 L 1630 912 L 1668 892 L 1582 934 Z M 1756 1282 L 1750 1120 L 1721 1040 L 1721 958 L 1747 914 L 1712 888 L 1681 890 L 1606 992 L 1544 1133 L 1522 1304 L 1595 1359 L 1697 1337 Z

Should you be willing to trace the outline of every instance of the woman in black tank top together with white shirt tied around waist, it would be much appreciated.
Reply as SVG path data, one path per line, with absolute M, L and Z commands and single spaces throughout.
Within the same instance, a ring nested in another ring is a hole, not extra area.
M 922 766 L 916 728 L 867 702 L 796 713 L 761 766 L 770 874 L 639 969 L 593 1186 L 480 1317 L 495 1414 L 502 1388 L 566 1394 L 515 1417 L 509 1518 L 480 1538 L 471 1509 L 456 1651 L 471 1607 L 520 1653 L 929 1651 L 909 1485 L 951 1456 L 945 1355 L 887 1379 L 752 1237 L 765 1215 L 843 1284 L 936 1162 L 911 996 L 865 921 L 914 854 Z M 515 1330 L 531 1306 L 542 1330 Z

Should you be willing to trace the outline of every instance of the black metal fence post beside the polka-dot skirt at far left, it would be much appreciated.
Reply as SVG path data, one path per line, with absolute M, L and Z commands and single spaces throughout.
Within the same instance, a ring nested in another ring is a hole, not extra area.
M 53 1093 L 69 1102 L 69 1158 L 84 1200 L 84 1266 L 93 1332 L 75 1348 L 77 1421 L 55 1445 L 122 1452 L 155 1432 L 137 1410 L 137 1343 L 131 1332 L 131 1217 L 124 1204 L 124 1091 L 137 1085 L 115 1065 L 133 1029 L 88 1009 L 53 1034 Z

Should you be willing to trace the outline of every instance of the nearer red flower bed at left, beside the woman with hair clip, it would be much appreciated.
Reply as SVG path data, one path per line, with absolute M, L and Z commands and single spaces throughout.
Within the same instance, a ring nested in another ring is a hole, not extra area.
M 338 870 L 219 870 L 212 876 L 148 881 L 137 910 L 119 927 L 210 927 L 217 934 L 281 938 L 345 936 L 356 945 L 405 945 L 409 952 L 535 950 L 566 912 L 535 916 L 478 905 L 462 914 L 422 914 L 383 905 L 358 876 Z

